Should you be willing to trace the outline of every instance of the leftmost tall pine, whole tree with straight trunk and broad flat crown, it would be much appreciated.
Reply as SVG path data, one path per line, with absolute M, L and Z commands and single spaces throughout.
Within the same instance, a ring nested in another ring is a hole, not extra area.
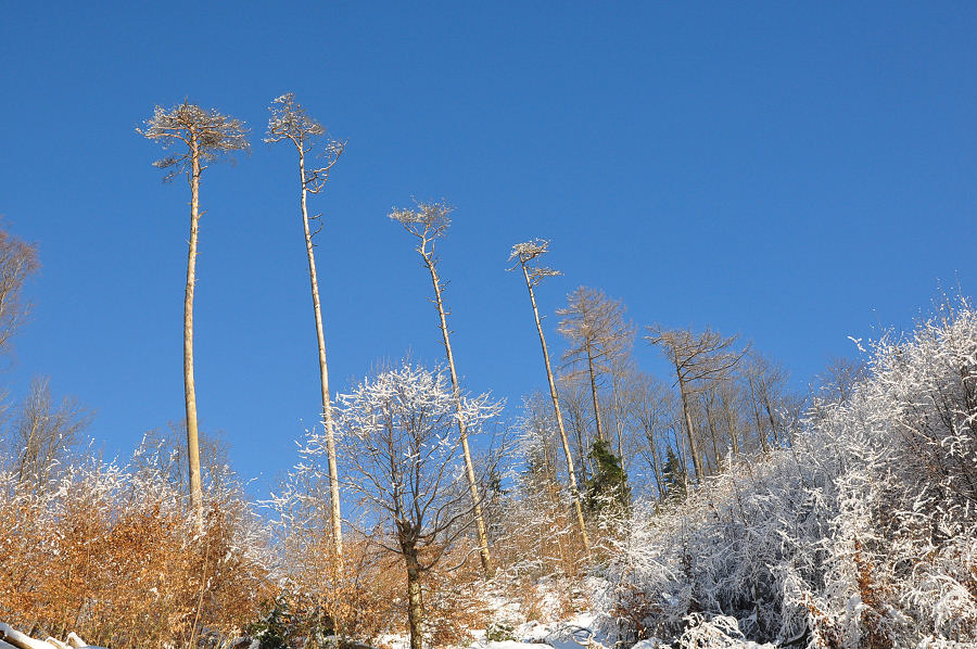
M 187 253 L 187 287 L 183 292 L 183 396 L 187 409 L 187 457 L 190 474 L 190 507 L 203 523 L 200 481 L 200 444 L 196 428 L 196 389 L 193 383 L 193 289 L 196 284 L 196 238 L 200 229 L 200 181 L 207 163 L 248 151 L 244 123 L 204 110 L 188 101 L 172 109 L 156 106 L 153 116 L 137 132 L 175 152 L 153 163 L 164 169 L 164 181 L 186 174 L 190 184 L 190 249 Z

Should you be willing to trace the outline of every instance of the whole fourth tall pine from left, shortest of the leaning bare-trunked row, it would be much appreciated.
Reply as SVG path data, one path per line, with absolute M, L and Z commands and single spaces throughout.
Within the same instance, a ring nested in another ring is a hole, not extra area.
M 540 334 L 540 346 L 543 347 L 543 364 L 546 367 L 546 380 L 549 382 L 549 396 L 553 399 L 553 410 L 556 413 L 557 428 L 560 433 L 560 442 L 563 443 L 563 454 L 567 457 L 567 473 L 570 480 L 570 497 L 573 499 L 573 508 L 576 510 L 576 524 L 580 527 L 580 536 L 583 539 L 584 547 L 591 547 L 591 539 L 587 536 L 587 526 L 584 523 L 583 507 L 580 501 L 580 489 L 576 482 L 576 471 L 573 469 L 573 454 L 570 453 L 570 441 L 567 438 L 567 429 L 563 425 L 563 415 L 560 411 L 560 399 L 557 395 L 556 381 L 553 376 L 553 367 L 549 364 L 549 351 L 546 348 L 546 338 L 543 335 L 543 322 L 540 319 L 540 309 L 536 307 L 536 293 L 533 290 L 547 277 L 556 277 L 561 275 L 559 270 L 541 266 L 537 262 L 538 257 L 549 252 L 549 241 L 545 239 L 535 239 L 523 243 L 517 243 L 512 246 L 509 254 L 509 260 L 518 262 L 517 265 L 509 268 L 522 269 L 522 277 L 525 279 L 525 288 L 530 294 L 530 303 L 533 305 L 533 317 L 536 320 L 536 331 Z

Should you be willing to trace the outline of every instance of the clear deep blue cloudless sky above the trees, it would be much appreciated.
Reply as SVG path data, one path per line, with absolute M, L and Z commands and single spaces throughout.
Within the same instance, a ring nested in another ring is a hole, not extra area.
M 545 313 L 598 287 L 638 324 L 740 332 L 800 383 L 938 281 L 974 291 L 977 4 L 137 4 L 0 20 L 0 214 L 43 263 L 3 381 L 50 374 L 110 456 L 182 417 L 188 190 L 135 128 L 185 97 L 252 128 L 250 157 L 205 173 L 195 320 L 201 422 L 246 476 L 289 467 L 318 408 L 295 160 L 261 142 L 286 91 L 348 140 L 313 203 L 334 389 L 407 349 L 441 359 L 386 218 L 411 195 L 457 207 L 459 371 L 513 407 L 544 386 L 504 271 L 529 238 L 566 272 Z

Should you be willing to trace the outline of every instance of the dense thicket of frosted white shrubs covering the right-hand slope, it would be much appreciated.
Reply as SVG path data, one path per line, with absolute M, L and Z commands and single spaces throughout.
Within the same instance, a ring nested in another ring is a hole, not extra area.
M 792 647 L 977 640 L 977 314 L 878 342 L 870 370 L 792 447 L 635 506 L 597 594 L 623 639 L 686 646 L 709 624 Z

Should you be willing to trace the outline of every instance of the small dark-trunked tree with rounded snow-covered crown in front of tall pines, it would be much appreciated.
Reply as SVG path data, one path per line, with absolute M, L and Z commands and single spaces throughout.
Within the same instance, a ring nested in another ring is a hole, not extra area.
M 404 561 L 411 649 L 423 644 L 424 575 L 474 523 L 480 505 L 470 499 L 459 424 L 473 436 L 500 411 L 487 394 L 459 397 L 444 372 L 408 362 L 338 398 L 346 487 L 383 529 L 376 543 Z M 314 437 L 307 450 L 320 443 Z M 483 492 L 498 461 L 487 455 L 477 475 Z

